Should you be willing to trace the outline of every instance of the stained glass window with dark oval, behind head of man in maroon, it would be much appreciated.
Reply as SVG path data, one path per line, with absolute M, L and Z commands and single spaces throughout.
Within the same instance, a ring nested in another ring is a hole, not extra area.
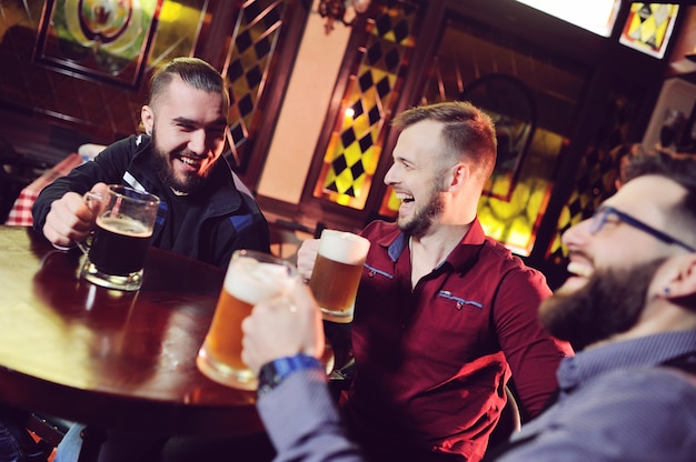
M 528 255 L 554 192 L 551 179 L 569 142 L 586 71 L 464 18 L 449 21 L 429 69 L 422 102 L 470 100 L 496 122 L 498 161 L 478 218 L 487 235 Z M 488 98 L 495 94 L 499 102 Z M 529 123 L 518 123 L 523 119 Z M 523 125 L 529 131 L 517 130 Z M 385 199 L 384 207 L 389 204 L 398 210 L 392 195 Z

